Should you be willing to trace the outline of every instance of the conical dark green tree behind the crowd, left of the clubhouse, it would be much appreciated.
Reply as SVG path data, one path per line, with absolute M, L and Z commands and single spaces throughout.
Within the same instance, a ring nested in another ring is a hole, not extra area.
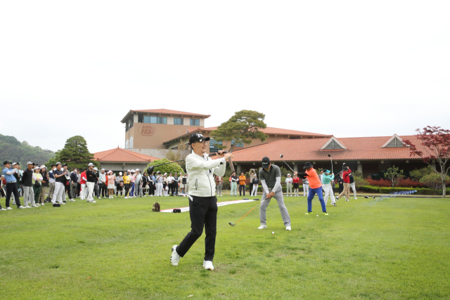
M 82 136 L 72 136 L 65 141 L 64 148 L 56 152 L 53 159 L 49 160 L 46 167 L 51 164 L 61 162 L 68 164 L 68 168 L 84 169 L 91 162 L 94 166 L 99 167 L 100 164 L 94 160 L 94 154 L 89 152 L 86 140 Z

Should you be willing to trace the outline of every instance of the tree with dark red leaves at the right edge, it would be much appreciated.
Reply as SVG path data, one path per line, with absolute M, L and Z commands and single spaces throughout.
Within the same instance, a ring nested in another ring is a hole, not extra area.
M 450 160 L 450 130 L 442 129 L 439 126 L 426 126 L 421 131 L 420 129 L 416 131 L 422 150 L 409 140 L 404 140 L 403 142 L 405 146 L 409 146 L 409 154 L 411 156 L 417 155 L 422 158 L 423 162 L 429 164 L 441 176 L 442 197 L 445 197 L 445 181 L 450 169 L 450 166 L 446 168 L 446 164 Z M 432 159 L 439 164 L 439 171 L 437 171 L 436 165 L 430 164 Z

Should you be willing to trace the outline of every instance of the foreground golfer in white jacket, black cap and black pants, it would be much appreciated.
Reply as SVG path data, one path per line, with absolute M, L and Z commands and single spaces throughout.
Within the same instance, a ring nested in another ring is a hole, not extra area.
M 186 171 L 189 174 L 189 215 L 191 216 L 191 232 L 184 237 L 179 246 L 172 247 L 170 262 L 178 266 L 180 257 L 192 247 L 194 242 L 202 235 L 205 227 L 205 259 L 203 267 L 214 270 L 214 247 L 216 244 L 217 225 L 217 197 L 216 183 L 213 174 L 224 176 L 226 160 L 233 157 L 231 153 L 225 155 L 218 152 L 217 159 L 211 159 L 206 153 L 207 141 L 201 133 L 194 133 L 189 138 L 191 154 L 186 157 Z

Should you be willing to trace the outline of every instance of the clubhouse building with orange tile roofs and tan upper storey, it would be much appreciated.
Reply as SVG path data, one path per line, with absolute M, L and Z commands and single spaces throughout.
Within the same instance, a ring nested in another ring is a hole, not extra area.
M 125 124 L 124 149 L 98 152 L 94 154 L 95 158 L 104 169 L 143 169 L 148 162 L 166 157 L 169 151 L 179 154 L 181 159 L 186 157 L 190 152 L 189 137 L 193 133 L 202 133 L 211 138 L 210 153 L 217 152 L 219 145 L 229 149 L 233 141 L 222 144 L 210 136 L 217 127 L 205 127 L 205 120 L 209 117 L 195 112 L 166 109 L 129 110 L 121 121 Z M 420 145 L 415 136 L 394 134 L 336 138 L 331 134 L 274 127 L 260 130 L 268 136 L 265 141 L 253 140 L 250 144 L 240 143 L 235 146 L 233 162 L 236 171 L 247 172 L 259 168 L 264 156 L 269 157 L 274 164 L 286 167 L 281 161 L 281 154 L 295 171 L 301 171 L 304 162 L 311 162 L 316 169 L 331 169 L 333 161 L 335 171 L 340 171 L 345 163 L 350 169 L 360 171 L 364 177 L 385 171 L 393 165 L 406 171 L 427 166 L 420 157 L 411 157 L 409 148 L 404 146 L 404 140 Z

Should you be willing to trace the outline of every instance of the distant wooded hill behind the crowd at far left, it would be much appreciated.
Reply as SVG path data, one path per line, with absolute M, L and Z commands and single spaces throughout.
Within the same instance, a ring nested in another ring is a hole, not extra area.
M 22 169 L 26 167 L 27 162 L 36 162 L 44 164 L 49 161 L 55 153 L 51 150 L 44 150 L 39 146 L 33 147 L 26 141 L 20 143 L 13 136 L 4 136 L 0 134 L 0 163 L 3 168 L 3 162 L 9 160 L 18 162 Z M 12 166 L 11 166 L 12 167 Z

